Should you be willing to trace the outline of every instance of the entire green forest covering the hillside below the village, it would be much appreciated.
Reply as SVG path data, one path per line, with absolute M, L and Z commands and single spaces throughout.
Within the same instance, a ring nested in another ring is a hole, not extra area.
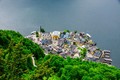
M 39 45 L 19 32 L 0 30 L 0 80 L 120 80 L 120 69 L 80 58 L 44 55 Z

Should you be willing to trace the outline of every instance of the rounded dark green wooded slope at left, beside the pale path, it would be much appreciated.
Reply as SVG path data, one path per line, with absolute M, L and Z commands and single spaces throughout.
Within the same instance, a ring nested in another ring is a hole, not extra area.
M 33 69 L 31 56 L 44 57 L 39 45 L 11 30 L 0 30 L 0 80 L 18 80 Z M 36 62 L 37 62 L 36 61 Z

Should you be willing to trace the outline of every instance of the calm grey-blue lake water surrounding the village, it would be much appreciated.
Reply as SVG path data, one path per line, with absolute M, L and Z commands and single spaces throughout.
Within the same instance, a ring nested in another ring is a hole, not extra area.
M 91 34 L 101 49 L 111 50 L 120 67 L 120 0 L 0 0 L 0 29 L 24 36 L 46 31 L 77 30 Z

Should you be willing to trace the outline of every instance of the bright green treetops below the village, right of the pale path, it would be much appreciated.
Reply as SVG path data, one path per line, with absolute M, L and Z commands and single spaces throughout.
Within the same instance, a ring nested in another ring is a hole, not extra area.
M 119 75 L 119 69 L 106 64 L 47 55 L 31 78 L 35 80 L 119 80 Z

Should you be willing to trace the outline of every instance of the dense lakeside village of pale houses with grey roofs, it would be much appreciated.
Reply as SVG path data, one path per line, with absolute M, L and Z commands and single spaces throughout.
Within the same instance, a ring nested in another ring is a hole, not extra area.
M 101 50 L 92 41 L 88 33 L 69 30 L 38 32 L 33 31 L 26 38 L 44 49 L 45 55 L 58 54 L 64 58 L 82 58 L 83 60 L 111 64 L 109 50 Z

